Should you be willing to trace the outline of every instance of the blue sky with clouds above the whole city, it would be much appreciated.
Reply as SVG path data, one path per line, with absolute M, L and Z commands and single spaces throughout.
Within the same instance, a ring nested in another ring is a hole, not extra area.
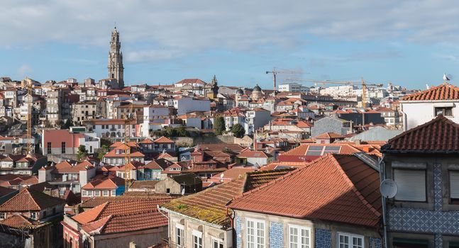
M 281 77 L 425 88 L 459 79 L 458 1 L 1 1 L 0 77 L 106 78 L 120 31 L 127 84 Z

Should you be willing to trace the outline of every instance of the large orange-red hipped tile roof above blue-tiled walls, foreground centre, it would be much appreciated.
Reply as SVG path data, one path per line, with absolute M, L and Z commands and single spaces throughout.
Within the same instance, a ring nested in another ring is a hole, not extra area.
M 243 193 L 228 206 L 290 218 L 377 227 L 381 217 L 379 174 L 367 167 L 355 156 L 327 154 L 308 167 Z

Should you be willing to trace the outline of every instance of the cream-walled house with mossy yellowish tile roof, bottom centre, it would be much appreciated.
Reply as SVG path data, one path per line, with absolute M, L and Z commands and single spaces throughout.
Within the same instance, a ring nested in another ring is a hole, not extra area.
M 232 220 L 226 204 L 240 193 L 287 174 L 288 170 L 250 172 L 219 186 L 177 198 L 161 206 L 169 214 L 169 247 L 240 247 L 233 243 Z

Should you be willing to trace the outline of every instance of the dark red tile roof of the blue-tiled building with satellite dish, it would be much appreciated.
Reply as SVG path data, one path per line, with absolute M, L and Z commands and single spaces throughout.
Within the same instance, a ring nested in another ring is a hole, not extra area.
M 382 152 L 459 152 L 459 124 L 443 115 L 401 133 L 382 146 Z

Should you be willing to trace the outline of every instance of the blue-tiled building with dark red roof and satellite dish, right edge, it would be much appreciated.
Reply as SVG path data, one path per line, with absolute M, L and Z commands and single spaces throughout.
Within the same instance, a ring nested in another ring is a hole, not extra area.
M 385 200 L 387 247 L 458 244 L 458 134 L 457 123 L 438 115 L 382 147 L 382 180 L 397 185 L 395 196 Z

